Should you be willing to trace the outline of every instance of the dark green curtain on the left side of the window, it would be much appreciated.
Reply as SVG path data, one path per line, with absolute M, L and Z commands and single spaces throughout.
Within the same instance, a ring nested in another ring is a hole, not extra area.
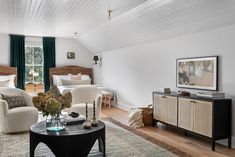
M 25 37 L 10 35 L 10 66 L 17 67 L 17 88 L 25 86 Z

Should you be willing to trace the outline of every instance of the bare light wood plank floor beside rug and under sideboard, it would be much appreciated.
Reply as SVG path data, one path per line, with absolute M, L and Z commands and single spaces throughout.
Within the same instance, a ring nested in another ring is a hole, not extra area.
M 112 117 L 125 125 L 128 125 L 128 112 L 112 107 L 103 107 L 101 117 Z M 184 133 L 173 128 L 158 125 L 158 127 L 143 127 L 137 129 L 142 133 L 167 142 L 168 144 L 184 150 L 195 157 L 235 157 L 235 149 L 228 149 L 225 146 L 216 144 L 215 151 L 211 151 L 211 143 L 196 136 L 184 136 Z

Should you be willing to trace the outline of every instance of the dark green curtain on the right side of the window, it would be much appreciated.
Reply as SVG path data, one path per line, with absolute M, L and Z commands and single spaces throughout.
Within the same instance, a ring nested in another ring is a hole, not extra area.
M 43 53 L 44 53 L 44 87 L 45 92 L 50 89 L 49 69 L 55 67 L 55 38 L 43 37 Z

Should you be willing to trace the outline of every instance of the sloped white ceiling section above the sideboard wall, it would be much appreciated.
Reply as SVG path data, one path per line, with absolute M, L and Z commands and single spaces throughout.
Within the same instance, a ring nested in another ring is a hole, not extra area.
M 99 53 L 234 23 L 235 0 L 149 0 L 79 41 Z

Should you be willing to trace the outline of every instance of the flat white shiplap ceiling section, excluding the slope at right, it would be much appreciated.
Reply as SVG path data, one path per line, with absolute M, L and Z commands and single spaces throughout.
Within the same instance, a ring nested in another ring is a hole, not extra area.
M 147 0 L 0 0 L 0 33 L 73 37 Z

